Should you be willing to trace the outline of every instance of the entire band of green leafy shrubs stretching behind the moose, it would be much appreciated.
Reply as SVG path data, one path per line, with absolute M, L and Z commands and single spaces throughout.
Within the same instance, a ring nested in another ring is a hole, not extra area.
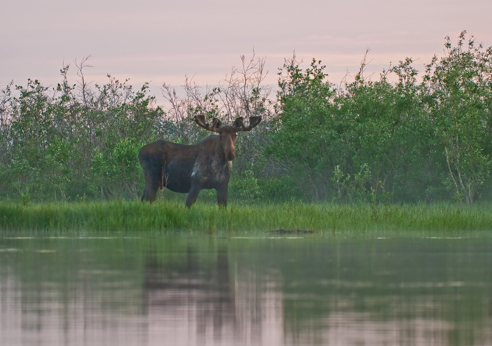
M 163 84 L 157 106 L 144 84 L 134 90 L 108 75 L 49 89 L 37 80 L 0 89 L 0 196 L 3 199 L 133 199 L 143 189 L 138 150 L 165 139 L 197 143 L 208 135 L 194 115 L 231 123 L 262 115 L 239 133 L 230 197 L 238 201 L 419 202 L 492 198 L 492 47 L 448 37 L 446 54 L 412 58 L 336 86 L 313 59 L 286 59 L 276 100 L 262 85 L 264 59 L 241 57 L 215 87 L 187 79 L 184 93 Z M 420 82 L 418 80 L 421 80 Z M 394 80 L 394 82 L 390 82 Z M 183 95 L 183 96 L 180 96 Z

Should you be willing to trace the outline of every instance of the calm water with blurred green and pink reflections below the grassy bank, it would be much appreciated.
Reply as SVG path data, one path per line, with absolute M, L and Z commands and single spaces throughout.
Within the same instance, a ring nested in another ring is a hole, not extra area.
M 0 237 L 0 345 L 492 345 L 492 238 Z

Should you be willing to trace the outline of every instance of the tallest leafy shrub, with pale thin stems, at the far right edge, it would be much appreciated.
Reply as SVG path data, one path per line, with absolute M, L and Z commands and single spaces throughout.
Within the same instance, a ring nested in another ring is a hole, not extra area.
M 429 116 L 435 138 L 444 148 L 445 182 L 457 200 L 471 203 L 490 183 L 492 47 L 483 50 L 465 31 L 457 47 L 446 38 L 447 54 L 426 66 Z

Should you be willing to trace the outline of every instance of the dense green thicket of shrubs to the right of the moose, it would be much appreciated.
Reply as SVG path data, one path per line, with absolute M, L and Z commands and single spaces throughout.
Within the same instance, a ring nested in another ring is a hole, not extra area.
M 411 58 L 379 81 L 363 77 L 364 58 L 354 82 L 339 90 L 321 61 L 302 70 L 295 57 L 286 60 L 269 149 L 305 198 L 472 203 L 489 193 L 492 47 L 471 36 L 465 50 L 464 37 L 455 48 L 447 38 L 447 55 L 432 59 L 422 83 Z

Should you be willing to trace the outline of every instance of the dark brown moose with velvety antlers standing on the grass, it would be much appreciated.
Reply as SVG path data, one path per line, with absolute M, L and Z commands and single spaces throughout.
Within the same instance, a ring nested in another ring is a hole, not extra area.
M 235 157 L 236 133 L 251 131 L 262 121 L 261 116 L 250 116 L 249 126 L 238 117 L 232 126 L 223 126 L 217 118 L 212 125 L 205 123 L 205 115 L 195 115 L 195 122 L 217 134 L 205 137 L 195 145 L 157 141 L 144 145 L 138 159 L 145 177 L 141 201 L 154 202 L 159 188 L 188 193 L 186 206 L 197 201 L 202 189 L 215 189 L 219 207 L 227 206 L 228 185 Z

